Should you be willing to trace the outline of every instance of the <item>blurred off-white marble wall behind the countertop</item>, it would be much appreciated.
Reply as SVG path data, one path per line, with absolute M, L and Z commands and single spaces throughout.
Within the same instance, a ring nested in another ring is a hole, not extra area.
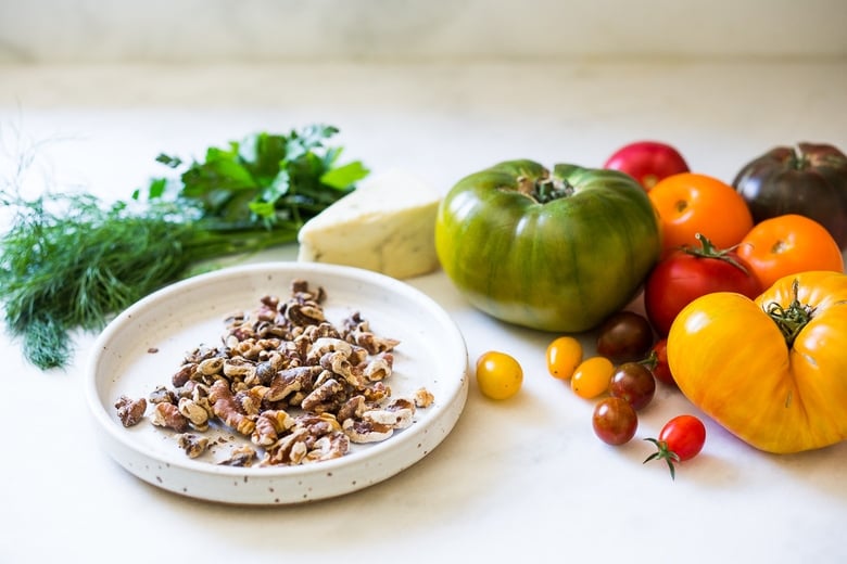
M 845 57 L 847 0 L 0 0 L 0 63 Z

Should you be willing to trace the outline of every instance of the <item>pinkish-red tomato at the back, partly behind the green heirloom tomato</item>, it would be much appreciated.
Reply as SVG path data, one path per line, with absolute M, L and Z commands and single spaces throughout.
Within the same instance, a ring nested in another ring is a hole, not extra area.
M 612 153 L 603 168 L 625 172 L 649 191 L 662 178 L 687 172 L 688 164 L 671 145 L 658 141 L 639 141 Z

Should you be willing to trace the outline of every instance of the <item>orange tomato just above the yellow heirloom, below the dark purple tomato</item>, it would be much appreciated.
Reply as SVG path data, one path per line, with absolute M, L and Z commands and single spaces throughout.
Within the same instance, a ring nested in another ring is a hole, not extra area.
M 816 220 L 796 214 L 757 223 L 742 240 L 737 254 L 763 290 L 782 277 L 809 270 L 844 272 L 844 256 L 835 239 Z

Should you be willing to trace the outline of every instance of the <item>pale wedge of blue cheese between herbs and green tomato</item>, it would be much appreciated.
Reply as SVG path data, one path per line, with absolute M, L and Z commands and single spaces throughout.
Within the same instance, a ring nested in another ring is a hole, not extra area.
M 440 266 L 440 202 L 432 187 L 404 170 L 372 176 L 300 229 L 298 260 L 358 267 L 396 279 L 432 272 Z

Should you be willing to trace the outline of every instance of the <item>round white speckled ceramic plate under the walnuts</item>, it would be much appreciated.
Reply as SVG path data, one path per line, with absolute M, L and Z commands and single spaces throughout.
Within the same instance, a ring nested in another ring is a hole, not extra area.
M 285 299 L 294 279 L 326 290 L 324 309 L 333 324 L 359 311 L 376 334 L 401 341 L 388 381 L 392 397 L 426 387 L 435 398 L 432 406 L 417 410 L 409 427 L 382 443 L 353 446 L 350 453 L 334 460 L 233 467 L 214 463 L 212 453 L 190 459 L 178 447 L 177 435 L 154 427 L 149 416 L 129 428 L 122 425 L 114 408 L 121 395 L 147 397 L 157 385 L 170 386 L 186 352 L 201 344 L 219 344 L 226 315 L 251 311 L 264 295 Z M 349 267 L 261 264 L 176 283 L 121 313 L 98 337 L 86 393 L 105 450 L 139 478 L 211 501 L 299 503 L 365 488 L 434 449 L 465 407 L 467 364 L 458 328 L 438 304 L 408 284 Z

